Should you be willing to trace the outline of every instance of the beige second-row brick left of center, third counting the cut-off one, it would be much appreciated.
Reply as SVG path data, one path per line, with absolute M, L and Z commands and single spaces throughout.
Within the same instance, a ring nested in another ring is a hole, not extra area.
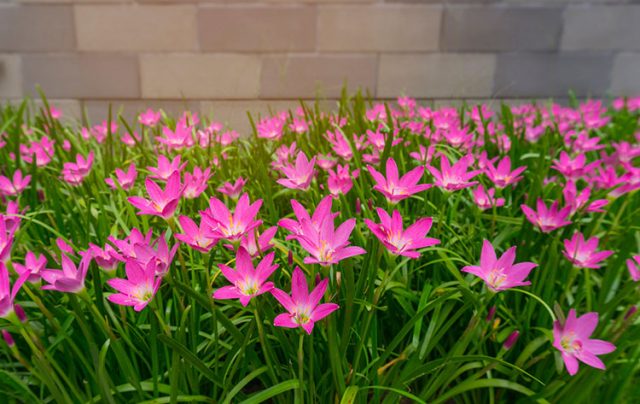
M 233 54 L 142 55 L 145 98 L 256 98 L 261 61 Z

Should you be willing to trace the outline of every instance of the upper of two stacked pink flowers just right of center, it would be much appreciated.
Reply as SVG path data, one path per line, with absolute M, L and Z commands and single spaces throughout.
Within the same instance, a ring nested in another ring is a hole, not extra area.
M 399 178 L 398 166 L 395 160 L 390 157 L 387 159 L 386 169 L 387 178 L 375 168 L 367 166 L 367 170 L 376 181 L 373 189 L 382 193 L 391 203 L 397 203 L 413 194 L 431 188 L 431 184 L 418 184 L 424 173 L 423 166 L 416 167 Z

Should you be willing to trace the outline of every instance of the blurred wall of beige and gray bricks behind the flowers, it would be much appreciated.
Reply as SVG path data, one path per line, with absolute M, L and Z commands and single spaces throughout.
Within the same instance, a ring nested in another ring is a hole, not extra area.
M 245 110 L 640 94 L 638 0 L 0 0 L 0 99 Z

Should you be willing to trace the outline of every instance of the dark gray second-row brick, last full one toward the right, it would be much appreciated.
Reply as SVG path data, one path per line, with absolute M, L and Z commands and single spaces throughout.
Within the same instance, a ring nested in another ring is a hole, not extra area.
M 608 54 L 512 53 L 498 56 L 497 97 L 603 95 L 613 64 Z

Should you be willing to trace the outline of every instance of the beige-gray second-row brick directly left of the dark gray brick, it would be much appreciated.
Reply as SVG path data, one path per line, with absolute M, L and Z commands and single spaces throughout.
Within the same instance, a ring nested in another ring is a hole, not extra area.
M 378 96 L 490 97 L 496 68 L 494 55 L 382 55 Z

